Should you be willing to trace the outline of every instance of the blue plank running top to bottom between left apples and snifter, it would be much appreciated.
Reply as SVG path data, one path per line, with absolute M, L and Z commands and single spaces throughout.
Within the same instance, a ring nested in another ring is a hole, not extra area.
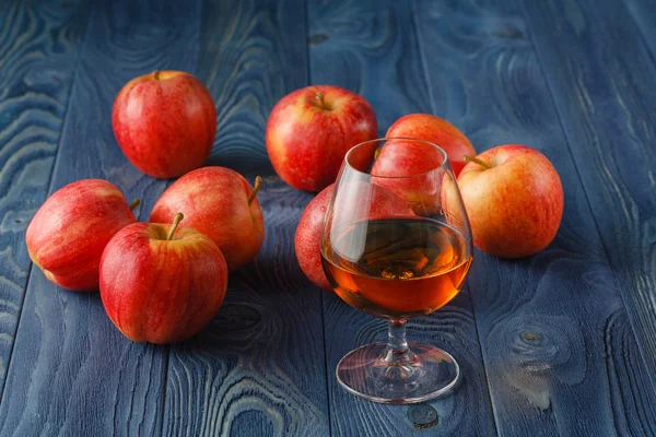
M 198 76 L 218 109 L 210 163 L 253 181 L 266 238 L 257 260 L 231 274 L 209 329 L 172 347 L 166 435 L 328 434 L 320 291 L 303 281 L 294 233 L 312 196 L 274 176 L 263 146 L 270 109 L 306 84 L 304 1 L 206 1 Z

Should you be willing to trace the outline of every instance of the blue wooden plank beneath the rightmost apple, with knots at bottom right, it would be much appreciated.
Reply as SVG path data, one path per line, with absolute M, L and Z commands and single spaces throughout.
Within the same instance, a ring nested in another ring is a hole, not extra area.
M 515 261 L 475 256 L 469 285 L 499 434 L 654 434 L 656 398 L 527 36 L 535 27 L 503 0 L 420 0 L 414 12 L 437 114 L 459 119 L 479 151 L 540 150 L 565 190 L 561 228 L 546 250 Z M 553 20 L 536 29 L 546 47 L 562 17 Z M 575 62 L 587 64 L 585 52 Z M 570 71 L 561 73 L 574 83 Z

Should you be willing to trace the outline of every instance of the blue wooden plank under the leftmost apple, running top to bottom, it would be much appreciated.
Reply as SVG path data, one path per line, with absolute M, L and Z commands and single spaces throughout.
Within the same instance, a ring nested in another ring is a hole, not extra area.
M 99 177 L 149 205 L 164 182 L 127 162 L 112 132 L 112 105 L 138 74 L 192 69 L 199 9 L 174 0 L 93 5 L 50 191 Z M 141 209 L 142 216 L 147 212 Z M 59 290 L 34 269 L 0 404 L 0 434 L 160 434 L 167 352 L 125 339 L 98 294 Z

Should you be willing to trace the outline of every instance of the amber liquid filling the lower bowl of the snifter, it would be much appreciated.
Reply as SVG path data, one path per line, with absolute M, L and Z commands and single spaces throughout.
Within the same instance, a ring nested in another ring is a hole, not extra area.
M 471 265 L 470 243 L 433 220 L 358 222 L 330 235 L 321 261 L 332 288 L 352 307 L 385 319 L 442 307 L 458 294 Z

